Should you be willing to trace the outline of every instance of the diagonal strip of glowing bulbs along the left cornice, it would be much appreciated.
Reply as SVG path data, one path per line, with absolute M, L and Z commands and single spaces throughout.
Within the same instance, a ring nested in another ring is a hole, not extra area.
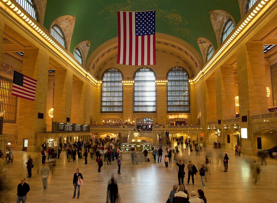
M 86 74 L 90 79 L 92 79 L 95 83 L 100 83 L 97 79 L 95 79 L 90 73 L 88 73 L 82 66 L 80 66 L 68 53 L 66 53 L 66 50 L 63 50 L 62 47 L 60 47 L 57 43 L 54 42 L 52 36 L 48 36 L 45 32 L 43 32 L 42 29 L 39 28 L 39 25 L 36 25 L 36 21 L 33 22 L 29 17 L 27 17 L 24 12 L 19 10 L 11 1 L 9 0 L 2 0 L 4 3 L 7 4 L 8 7 L 10 7 L 11 11 L 13 11 L 17 16 L 22 18 L 29 26 L 31 26 L 38 34 L 40 34 L 47 42 L 49 42 L 56 50 L 58 50 L 60 53 L 62 53 L 66 58 L 68 58 L 73 65 L 75 65 L 79 70 L 81 70 L 84 74 Z

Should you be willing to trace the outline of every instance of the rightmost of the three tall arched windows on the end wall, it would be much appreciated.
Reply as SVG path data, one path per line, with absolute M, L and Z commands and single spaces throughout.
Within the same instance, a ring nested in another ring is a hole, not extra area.
M 189 74 L 181 67 L 174 67 L 167 74 L 167 112 L 190 112 Z

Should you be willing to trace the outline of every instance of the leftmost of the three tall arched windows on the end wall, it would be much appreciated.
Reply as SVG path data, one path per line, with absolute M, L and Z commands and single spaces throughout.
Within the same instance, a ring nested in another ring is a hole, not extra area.
M 123 112 L 123 75 L 116 68 L 102 74 L 101 113 Z

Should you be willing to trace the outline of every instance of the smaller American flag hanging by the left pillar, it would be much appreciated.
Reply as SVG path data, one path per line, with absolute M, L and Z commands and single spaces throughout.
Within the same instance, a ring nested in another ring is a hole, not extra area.
M 37 80 L 14 71 L 12 95 L 34 101 L 36 86 Z

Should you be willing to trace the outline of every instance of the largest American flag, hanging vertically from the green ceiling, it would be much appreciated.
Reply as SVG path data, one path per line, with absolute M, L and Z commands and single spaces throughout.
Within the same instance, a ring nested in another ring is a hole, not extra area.
M 155 11 L 117 11 L 117 63 L 156 65 Z

